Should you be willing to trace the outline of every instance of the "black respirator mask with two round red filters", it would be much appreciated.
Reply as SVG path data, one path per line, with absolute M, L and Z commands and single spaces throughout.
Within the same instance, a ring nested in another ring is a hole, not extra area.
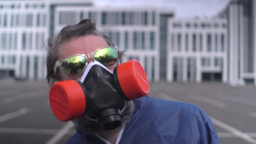
M 49 92 L 53 114 L 61 121 L 86 117 L 104 130 L 121 125 L 127 101 L 149 93 L 146 73 L 136 59 L 111 72 L 98 61 L 90 62 L 81 80 L 54 83 Z

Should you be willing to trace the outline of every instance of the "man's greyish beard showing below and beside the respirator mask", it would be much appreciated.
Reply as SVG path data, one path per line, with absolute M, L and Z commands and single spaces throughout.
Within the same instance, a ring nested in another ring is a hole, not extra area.
M 133 101 L 127 101 L 126 106 L 122 112 L 122 124 L 113 130 L 116 131 L 122 128 L 123 125 L 128 123 L 131 114 L 133 113 Z M 75 124 L 77 132 L 85 135 L 93 135 L 94 133 L 100 133 L 104 131 L 97 121 L 89 120 L 88 118 L 82 116 L 76 119 L 73 119 L 72 122 Z

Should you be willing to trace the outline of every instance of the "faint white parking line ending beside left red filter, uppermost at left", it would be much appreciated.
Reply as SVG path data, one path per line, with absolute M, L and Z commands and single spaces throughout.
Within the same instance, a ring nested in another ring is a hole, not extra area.
M 17 96 L 11 96 L 11 97 L 5 98 L 5 99 L 3 99 L 3 101 L 5 103 L 11 103 L 13 101 L 20 101 L 22 99 L 29 99 L 29 98 L 33 98 L 33 97 L 44 96 L 42 94 L 38 94 L 38 93 L 42 93 L 42 92 L 45 92 L 45 91 L 41 90 L 41 91 L 32 91 L 32 92 L 28 92 L 28 93 L 23 93 L 23 94 L 20 94 Z

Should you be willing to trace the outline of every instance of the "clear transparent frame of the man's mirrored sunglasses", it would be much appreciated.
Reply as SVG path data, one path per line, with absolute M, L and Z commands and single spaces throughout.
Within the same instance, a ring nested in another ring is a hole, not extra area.
M 71 56 L 67 56 L 63 59 L 59 59 L 58 61 L 55 62 L 54 64 L 54 75 L 56 75 L 56 71 L 57 71 L 57 68 L 59 67 L 59 69 L 61 69 L 61 72 L 64 74 L 65 77 L 70 77 L 70 76 L 67 76 L 65 75 L 62 67 L 61 67 L 61 64 L 62 64 L 62 61 L 67 59 L 67 58 L 70 58 L 70 57 L 73 57 L 73 56 L 83 56 L 85 58 L 85 67 L 83 68 L 83 71 L 78 74 L 78 75 L 81 75 L 84 71 L 85 71 L 85 68 L 87 67 L 88 65 L 88 59 L 93 59 L 94 61 L 96 61 L 96 59 L 94 58 L 94 53 L 96 53 L 97 51 L 101 50 L 101 49 L 104 49 L 104 48 L 113 48 L 115 50 L 115 52 L 117 53 L 117 62 L 115 64 L 113 64 L 112 66 L 108 66 L 108 67 L 113 67 L 115 66 L 116 64 L 118 65 L 119 64 L 119 52 L 118 52 L 118 47 L 116 45 L 109 45 L 107 47 L 101 47 L 101 48 L 97 48 L 95 51 L 91 52 L 91 53 L 87 53 L 87 54 L 74 54 L 74 55 L 71 55 Z M 107 67 L 107 66 L 106 66 Z M 77 77 L 78 75 L 75 75 L 75 76 L 71 76 L 71 77 Z

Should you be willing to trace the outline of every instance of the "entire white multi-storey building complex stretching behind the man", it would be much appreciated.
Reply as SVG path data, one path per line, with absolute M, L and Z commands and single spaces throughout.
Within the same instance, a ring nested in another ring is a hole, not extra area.
M 82 0 L 0 2 L 0 77 L 44 80 L 45 41 L 91 18 L 138 59 L 150 81 L 256 84 L 256 0 L 232 0 L 215 18 L 179 19 L 162 8 L 96 7 Z

